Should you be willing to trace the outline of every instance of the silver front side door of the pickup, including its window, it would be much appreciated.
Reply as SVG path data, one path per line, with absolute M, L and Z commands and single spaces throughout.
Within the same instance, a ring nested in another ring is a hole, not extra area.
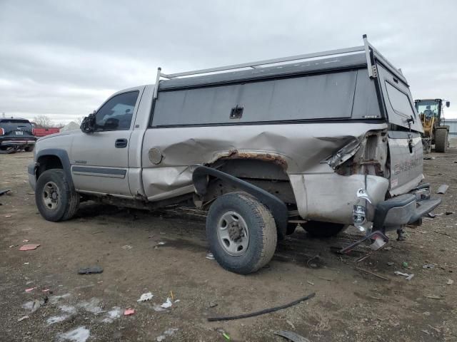
M 76 190 L 131 197 L 129 140 L 143 90 L 112 96 L 96 112 L 94 133 L 74 136 L 70 160 Z

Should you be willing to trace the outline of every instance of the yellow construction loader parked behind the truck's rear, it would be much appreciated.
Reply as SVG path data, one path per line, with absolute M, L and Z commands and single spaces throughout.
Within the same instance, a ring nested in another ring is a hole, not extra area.
M 449 126 L 444 124 L 443 103 L 449 108 L 449 101 L 436 98 L 434 100 L 415 100 L 417 113 L 423 125 L 422 144 L 424 152 L 446 152 L 448 147 Z

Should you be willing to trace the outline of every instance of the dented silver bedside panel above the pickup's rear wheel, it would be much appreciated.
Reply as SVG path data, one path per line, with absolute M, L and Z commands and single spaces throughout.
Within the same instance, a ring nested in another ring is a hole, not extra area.
M 318 197 L 333 199 L 332 203 L 322 204 L 329 208 L 340 205 L 334 200 L 338 194 L 321 196 L 325 194 L 321 193 L 318 184 L 336 175 L 325 160 L 354 137 L 359 139 L 368 130 L 385 128 L 383 123 L 354 122 L 149 128 L 142 152 L 144 190 L 149 200 L 193 192 L 191 165 L 209 165 L 220 158 L 254 157 L 271 160 L 285 169 L 298 210 L 306 217 L 309 203 Z M 153 147 L 162 155 L 158 165 L 149 160 L 149 150 Z M 343 180 L 338 180 L 338 184 L 344 183 Z M 348 196 L 355 197 L 355 193 L 356 190 Z M 348 199 L 341 203 L 342 211 L 347 212 Z M 349 212 L 351 210 L 352 207 Z M 331 209 L 323 212 L 331 212 Z

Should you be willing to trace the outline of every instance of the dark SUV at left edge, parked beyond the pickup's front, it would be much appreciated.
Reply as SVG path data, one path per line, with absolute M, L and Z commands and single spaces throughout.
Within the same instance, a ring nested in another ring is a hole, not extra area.
M 0 154 L 14 153 L 24 149 L 34 150 L 36 137 L 29 120 L 0 118 Z

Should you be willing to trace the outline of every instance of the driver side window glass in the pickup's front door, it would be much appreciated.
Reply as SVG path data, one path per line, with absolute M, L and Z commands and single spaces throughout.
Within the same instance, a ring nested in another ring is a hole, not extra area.
M 129 130 L 139 91 L 130 91 L 110 98 L 96 113 L 95 131 Z

